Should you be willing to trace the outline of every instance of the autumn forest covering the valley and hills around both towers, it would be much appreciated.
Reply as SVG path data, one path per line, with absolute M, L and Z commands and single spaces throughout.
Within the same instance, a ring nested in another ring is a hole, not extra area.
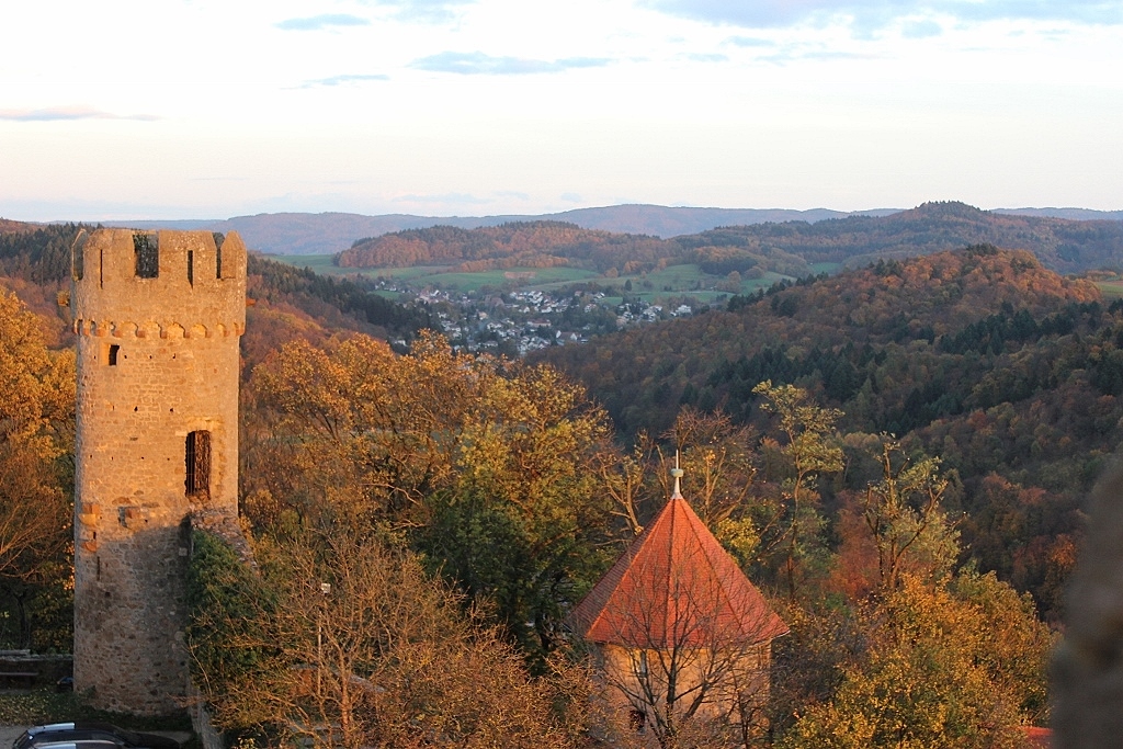
M 1123 438 L 1123 301 L 1087 273 L 1123 266 L 1116 223 L 930 204 L 669 240 L 438 227 L 339 256 L 786 276 L 519 360 L 454 350 L 422 304 L 252 257 L 257 568 L 200 538 L 190 581 L 216 722 L 259 746 L 294 725 L 349 747 L 1023 746 L 1049 720 L 1085 497 Z M 40 652 L 71 637 L 76 230 L 0 223 L 0 639 Z M 791 633 L 754 714 L 638 734 L 565 619 L 667 501 L 676 456 Z M 299 584 L 326 575 L 331 596 Z M 317 642 L 337 659 L 310 701 Z

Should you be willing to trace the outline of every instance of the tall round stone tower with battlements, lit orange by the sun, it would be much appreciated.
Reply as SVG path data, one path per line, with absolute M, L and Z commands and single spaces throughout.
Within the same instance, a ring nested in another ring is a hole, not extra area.
M 246 249 L 236 234 L 99 229 L 74 246 L 74 688 L 182 707 L 189 515 L 236 515 Z

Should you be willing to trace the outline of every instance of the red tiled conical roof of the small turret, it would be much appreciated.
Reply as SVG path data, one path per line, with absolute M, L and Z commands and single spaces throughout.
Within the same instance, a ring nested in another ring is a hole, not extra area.
M 588 641 L 650 649 L 743 646 L 788 632 L 677 493 L 567 621 Z

